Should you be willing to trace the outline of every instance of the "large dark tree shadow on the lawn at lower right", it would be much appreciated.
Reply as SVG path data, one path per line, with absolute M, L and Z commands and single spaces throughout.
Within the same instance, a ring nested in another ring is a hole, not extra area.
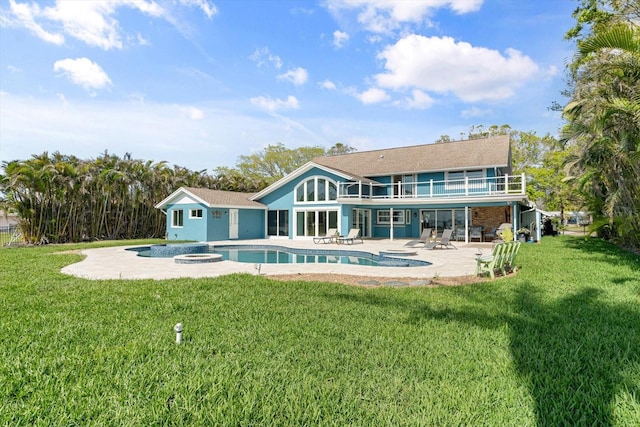
M 535 401 L 537 425 L 613 425 L 612 408 L 621 392 L 640 403 L 640 386 L 626 376 L 640 364 L 637 309 L 604 302 L 592 288 L 549 303 L 532 286 L 515 293 L 512 314 L 488 314 L 492 308 L 499 313 L 496 307 L 456 311 L 422 306 L 410 320 L 483 328 L 508 324 L 515 368 Z

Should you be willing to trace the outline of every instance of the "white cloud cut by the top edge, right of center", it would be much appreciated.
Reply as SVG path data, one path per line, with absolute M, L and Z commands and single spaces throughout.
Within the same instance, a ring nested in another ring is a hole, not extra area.
M 420 23 L 436 9 L 449 8 L 457 14 L 475 12 L 484 0 L 328 0 L 335 14 L 357 11 L 358 23 L 374 33 L 389 33 L 403 23 Z

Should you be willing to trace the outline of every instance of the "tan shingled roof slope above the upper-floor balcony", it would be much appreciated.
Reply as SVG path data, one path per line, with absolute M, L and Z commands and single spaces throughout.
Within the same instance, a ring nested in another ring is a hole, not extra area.
M 509 136 L 322 156 L 314 163 L 343 173 L 382 176 L 419 172 L 509 167 Z

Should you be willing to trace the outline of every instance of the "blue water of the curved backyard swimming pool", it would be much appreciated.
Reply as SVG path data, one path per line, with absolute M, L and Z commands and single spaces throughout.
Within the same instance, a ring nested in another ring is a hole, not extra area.
M 138 252 L 138 256 L 151 256 L 149 246 L 132 250 Z M 352 264 L 381 267 L 423 267 L 431 264 L 427 261 L 374 255 L 363 251 L 295 249 L 275 245 L 222 245 L 208 247 L 205 251 L 220 254 L 223 260 L 253 264 Z

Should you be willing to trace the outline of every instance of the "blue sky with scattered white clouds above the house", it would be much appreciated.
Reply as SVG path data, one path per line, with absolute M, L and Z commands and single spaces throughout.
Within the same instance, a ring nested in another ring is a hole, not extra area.
M 0 161 L 193 170 L 562 125 L 572 0 L 0 0 Z

